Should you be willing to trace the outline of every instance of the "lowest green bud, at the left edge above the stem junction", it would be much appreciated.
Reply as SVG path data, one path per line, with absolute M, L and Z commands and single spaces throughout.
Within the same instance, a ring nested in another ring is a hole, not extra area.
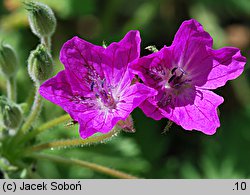
M 5 97 L 0 97 L 0 114 L 6 128 L 16 129 L 23 120 L 23 114 L 18 105 Z

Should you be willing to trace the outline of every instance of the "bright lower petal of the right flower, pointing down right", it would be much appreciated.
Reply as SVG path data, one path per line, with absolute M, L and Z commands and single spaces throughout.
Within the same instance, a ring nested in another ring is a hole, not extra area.
M 190 99 L 179 97 L 175 108 L 165 117 L 181 125 L 186 130 L 198 130 L 212 135 L 220 126 L 217 107 L 223 103 L 223 98 L 209 90 L 196 90 L 193 102 Z

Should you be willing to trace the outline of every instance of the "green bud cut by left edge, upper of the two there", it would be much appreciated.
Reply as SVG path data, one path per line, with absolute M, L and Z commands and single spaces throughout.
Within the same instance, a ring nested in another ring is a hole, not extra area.
M 6 77 L 15 76 L 17 72 L 17 56 L 9 45 L 0 44 L 0 70 Z

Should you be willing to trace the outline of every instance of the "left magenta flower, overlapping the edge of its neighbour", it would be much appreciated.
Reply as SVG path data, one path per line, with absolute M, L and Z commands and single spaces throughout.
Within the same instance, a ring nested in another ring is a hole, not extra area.
M 65 70 L 43 83 L 40 94 L 61 106 L 80 124 L 82 138 L 109 132 L 118 121 L 157 91 L 131 85 L 128 64 L 140 55 L 140 35 L 130 31 L 106 49 L 78 37 L 67 41 L 60 60 Z

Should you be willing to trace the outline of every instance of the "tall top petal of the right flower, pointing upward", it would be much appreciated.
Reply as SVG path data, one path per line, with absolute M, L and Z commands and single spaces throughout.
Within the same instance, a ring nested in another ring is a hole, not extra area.
M 170 47 L 172 52 L 166 52 L 165 56 L 171 54 L 172 66 L 181 67 L 194 85 L 202 86 L 213 65 L 212 56 L 207 52 L 212 44 L 212 37 L 191 19 L 182 23 Z

